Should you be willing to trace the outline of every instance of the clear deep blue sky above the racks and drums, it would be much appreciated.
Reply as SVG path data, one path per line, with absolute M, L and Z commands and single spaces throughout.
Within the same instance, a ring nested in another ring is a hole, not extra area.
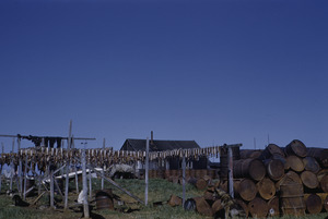
M 2 0 L 0 62 L 0 134 L 328 147 L 327 1 Z

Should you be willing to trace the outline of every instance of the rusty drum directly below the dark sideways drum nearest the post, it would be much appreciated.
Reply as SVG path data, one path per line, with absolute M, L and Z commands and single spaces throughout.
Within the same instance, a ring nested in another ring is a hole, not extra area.
M 235 181 L 234 183 L 236 195 L 239 195 L 244 200 L 253 200 L 256 197 L 257 188 L 255 183 L 249 179 Z

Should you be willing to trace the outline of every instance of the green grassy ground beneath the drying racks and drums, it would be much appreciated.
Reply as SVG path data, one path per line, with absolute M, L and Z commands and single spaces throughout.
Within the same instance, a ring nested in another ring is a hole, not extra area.
M 142 200 L 144 199 L 144 181 L 141 180 L 116 180 L 116 182 L 127 188 L 132 194 L 137 195 Z M 4 185 L 5 186 L 5 185 Z M 74 199 L 78 198 L 75 194 L 74 183 L 70 184 L 72 192 L 69 196 L 69 205 L 74 204 Z M 101 188 L 101 181 L 93 180 L 93 190 Z M 168 218 L 183 218 L 183 219 L 201 219 L 210 218 L 200 216 L 194 211 L 185 211 L 181 207 L 171 207 L 165 204 L 169 199 L 172 194 L 177 196 L 183 196 L 183 187 L 178 184 L 169 183 L 165 180 L 155 180 L 151 179 L 149 184 L 149 206 L 139 204 L 133 198 L 129 197 L 124 192 L 117 190 L 112 184 L 105 182 L 105 188 L 113 188 L 115 195 L 120 196 L 121 200 L 125 202 L 125 205 L 118 205 L 115 202 L 115 210 L 96 210 L 95 202 L 91 203 L 92 211 L 91 217 L 93 219 L 104 219 L 104 218 L 121 218 L 121 219 L 168 219 Z M 80 187 L 81 190 L 81 187 Z M 82 211 L 79 211 L 79 208 L 63 210 L 63 200 L 62 197 L 56 195 L 55 199 L 57 202 L 57 209 L 50 209 L 49 196 L 43 196 L 36 205 L 28 207 L 15 207 L 11 197 L 4 194 L 5 187 L 2 190 L 0 195 L 0 219 L 70 219 L 70 218 L 81 218 Z M 198 191 L 191 185 L 186 186 L 186 197 L 195 197 L 203 194 L 203 191 Z M 28 197 L 27 202 L 32 203 L 36 197 Z M 92 198 L 94 199 L 94 197 Z M 163 202 L 163 205 L 155 206 L 153 203 Z M 304 219 L 315 218 L 315 219 L 325 219 L 328 217 L 328 214 L 320 214 L 317 216 L 306 216 Z M 293 217 L 283 217 L 284 219 L 291 219 Z

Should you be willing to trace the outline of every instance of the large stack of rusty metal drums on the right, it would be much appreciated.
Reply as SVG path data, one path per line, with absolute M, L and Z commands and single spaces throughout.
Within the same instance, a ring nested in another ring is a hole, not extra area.
M 285 147 L 269 144 L 265 150 L 241 150 L 233 158 L 234 196 L 247 215 L 328 211 L 328 149 L 306 148 L 294 139 Z M 219 185 L 225 191 L 226 160 L 221 159 Z

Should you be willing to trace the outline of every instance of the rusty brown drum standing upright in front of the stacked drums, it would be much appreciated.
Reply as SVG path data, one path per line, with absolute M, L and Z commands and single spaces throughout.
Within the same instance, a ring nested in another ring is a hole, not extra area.
M 281 209 L 284 215 L 302 216 L 305 214 L 303 185 L 289 182 L 280 185 Z

